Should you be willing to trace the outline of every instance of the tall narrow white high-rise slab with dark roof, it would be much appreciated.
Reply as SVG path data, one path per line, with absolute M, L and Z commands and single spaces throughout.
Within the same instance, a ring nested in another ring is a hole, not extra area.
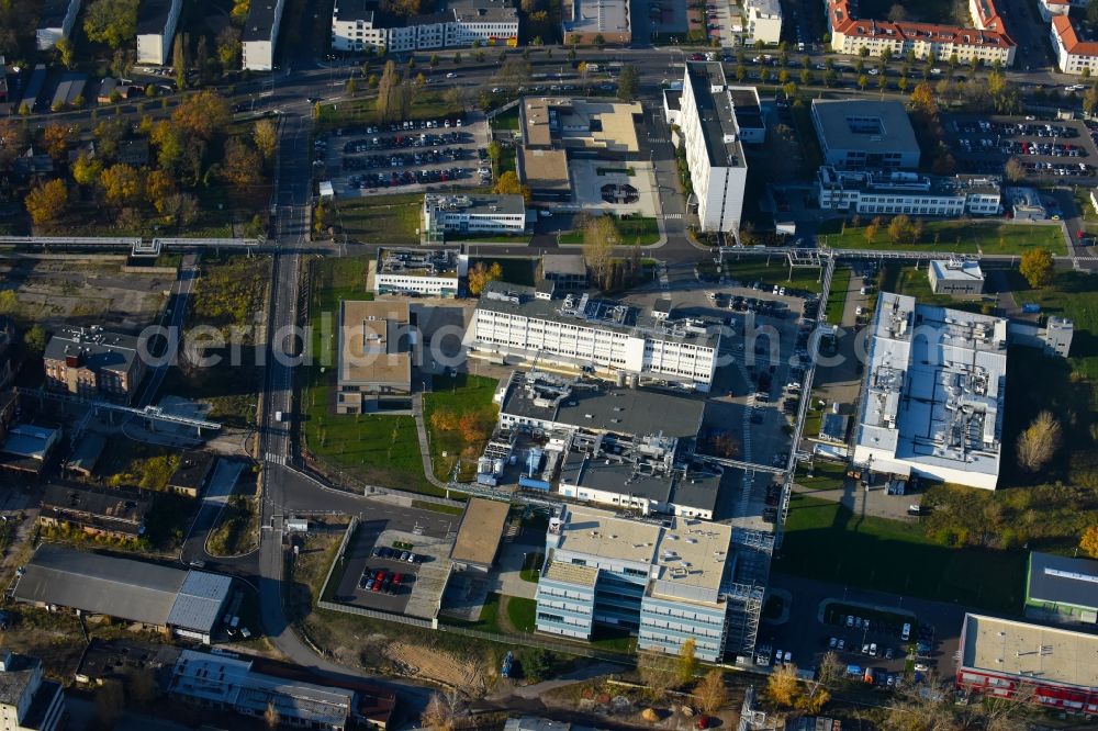
M 748 162 L 732 90 L 720 64 L 686 64 L 681 106 L 680 130 L 701 228 L 738 232 Z

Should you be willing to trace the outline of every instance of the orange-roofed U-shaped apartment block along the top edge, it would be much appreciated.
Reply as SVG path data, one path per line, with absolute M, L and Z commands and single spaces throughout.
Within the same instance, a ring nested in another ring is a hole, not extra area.
M 970 63 L 974 58 L 987 66 L 996 63 L 1011 66 L 1015 63 L 1017 45 L 1007 34 L 993 0 L 970 0 L 976 27 L 862 20 L 852 16 L 852 5 L 851 0 L 828 0 L 831 47 L 839 53 L 856 54 L 867 48 L 870 55 L 881 56 L 888 48 L 894 56 L 911 50 L 919 58 L 932 55 L 948 59 L 955 54 L 961 63 Z

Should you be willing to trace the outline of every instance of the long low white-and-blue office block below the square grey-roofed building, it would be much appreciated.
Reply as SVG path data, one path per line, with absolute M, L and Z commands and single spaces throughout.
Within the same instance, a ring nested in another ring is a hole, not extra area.
M 989 177 L 944 178 L 896 170 L 817 171 L 817 200 L 824 211 L 959 217 L 1001 212 L 999 181 Z

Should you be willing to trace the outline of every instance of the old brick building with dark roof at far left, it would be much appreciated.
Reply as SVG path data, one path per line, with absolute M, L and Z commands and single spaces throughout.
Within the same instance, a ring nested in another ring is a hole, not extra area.
M 58 328 L 43 355 L 46 387 L 85 398 L 130 401 L 145 375 L 137 346 L 132 335 L 98 326 Z

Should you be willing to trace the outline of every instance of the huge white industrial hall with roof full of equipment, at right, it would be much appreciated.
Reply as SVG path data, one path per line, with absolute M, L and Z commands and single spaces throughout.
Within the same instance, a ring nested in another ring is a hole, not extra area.
M 854 461 L 995 490 L 1007 320 L 883 292 L 871 331 Z

